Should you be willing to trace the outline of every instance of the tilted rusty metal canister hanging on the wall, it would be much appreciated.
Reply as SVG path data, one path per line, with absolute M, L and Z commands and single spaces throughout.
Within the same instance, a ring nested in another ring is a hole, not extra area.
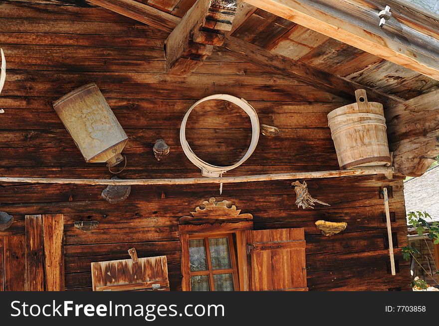
M 95 83 L 82 86 L 59 100 L 53 108 L 87 163 L 121 163 L 128 136 Z

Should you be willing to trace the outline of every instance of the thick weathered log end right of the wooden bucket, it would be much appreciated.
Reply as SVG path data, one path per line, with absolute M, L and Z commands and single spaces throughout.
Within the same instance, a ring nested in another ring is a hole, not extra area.
M 439 90 L 385 110 L 395 172 L 424 174 L 439 155 Z

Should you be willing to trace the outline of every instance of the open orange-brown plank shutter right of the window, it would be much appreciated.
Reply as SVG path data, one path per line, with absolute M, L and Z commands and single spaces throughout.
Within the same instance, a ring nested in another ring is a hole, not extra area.
M 251 291 L 308 291 L 303 228 L 246 231 Z

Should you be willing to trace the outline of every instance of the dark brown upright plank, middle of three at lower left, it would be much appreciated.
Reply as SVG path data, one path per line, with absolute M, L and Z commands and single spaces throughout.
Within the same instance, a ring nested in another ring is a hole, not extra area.
M 41 215 L 26 215 L 25 254 L 26 282 L 25 291 L 44 291 L 44 245 Z

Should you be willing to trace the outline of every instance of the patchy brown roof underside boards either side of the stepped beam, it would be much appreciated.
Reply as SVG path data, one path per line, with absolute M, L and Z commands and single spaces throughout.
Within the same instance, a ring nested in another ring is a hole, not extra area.
M 182 17 L 195 0 L 138 2 Z M 249 4 L 242 5 L 245 16 L 235 21 L 232 33 L 241 40 L 404 100 L 438 88 L 437 80 Z

